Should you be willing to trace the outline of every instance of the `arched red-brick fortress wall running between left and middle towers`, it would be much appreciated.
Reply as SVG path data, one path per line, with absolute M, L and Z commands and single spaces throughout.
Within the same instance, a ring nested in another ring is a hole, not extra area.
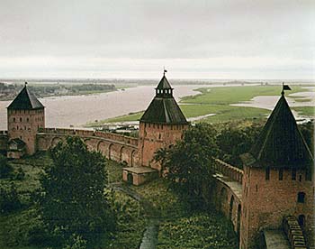
M 129 166 L 139 166 L 138 139 L 120 134 L 74 129 L 40 129 L 36 136 L 38 151 L 47 151 L 68 135 L 80 136 L 89 150 L 102 152 L 110 160 Z

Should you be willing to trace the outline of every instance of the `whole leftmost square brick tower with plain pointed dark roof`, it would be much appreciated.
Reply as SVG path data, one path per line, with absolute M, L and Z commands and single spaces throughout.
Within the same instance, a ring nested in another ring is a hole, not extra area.
M 45 127 L 44 106 L 27 88 L 24 88 L 7 107 L 8 139 L 25 144 L 26 154 L 36 151 L 36 134 Z M 10 150 L 10 148 L 9 148 Z

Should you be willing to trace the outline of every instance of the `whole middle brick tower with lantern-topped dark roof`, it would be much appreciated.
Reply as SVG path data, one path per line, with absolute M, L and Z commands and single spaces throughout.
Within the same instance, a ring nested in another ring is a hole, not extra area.
M 153 160 L 155 152 L 182 139 L 187 127 L 188 122 L 164 73 L 157 85 L 156 96 L 139 120 L 140 164 L 161 171 L 161 166 Z

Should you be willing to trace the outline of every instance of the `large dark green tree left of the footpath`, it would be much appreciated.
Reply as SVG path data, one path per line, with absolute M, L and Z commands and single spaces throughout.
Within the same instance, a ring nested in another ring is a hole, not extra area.
M 53 164 L 40 183 L 40 209 L 49 231 L 65 240 L 72 235 L 90 239 L 114 228 L 114 217 L 104 195 L 105 161 L 89 152 L 79 137 L 67 137 L 50 150 Z

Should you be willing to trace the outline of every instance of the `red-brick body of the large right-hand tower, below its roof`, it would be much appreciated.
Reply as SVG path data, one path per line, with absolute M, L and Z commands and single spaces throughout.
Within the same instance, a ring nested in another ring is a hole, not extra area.
M 300 181 L 300 176 L 302 180 Z M 283 217 L 305 216 L 305 232 L 311 239 L 311 225 L 314 220 L 314 180 L 305 180 L 305 171 L 297 171 L 292 180 L 292 171 L 284 170 L 284 179 L 279 180 L 279 171 L 244 168 L 242 193 L 241 248 L 252 248 L 258 229 L 281 228 Z M 298 193 L 304 192 L 305 203 L 298 203 Z

